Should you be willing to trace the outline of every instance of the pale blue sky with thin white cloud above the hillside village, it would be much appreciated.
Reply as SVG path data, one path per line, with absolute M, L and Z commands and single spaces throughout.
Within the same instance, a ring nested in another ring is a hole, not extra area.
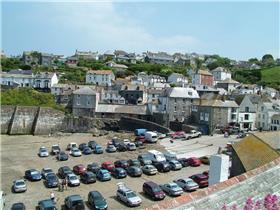
M 1 48 L 73 55 L 75 50 L 279 55 L 279 1 L 2 1 Z

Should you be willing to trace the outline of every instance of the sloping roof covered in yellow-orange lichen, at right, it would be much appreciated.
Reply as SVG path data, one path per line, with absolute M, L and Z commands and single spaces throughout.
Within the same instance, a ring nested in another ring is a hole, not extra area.
M 262 138 L 268 139 L 265 136 Z M 233 144 L 232 147 L 246 171 L 258 168 L 280 157 L 275 149 L 254 134 Z

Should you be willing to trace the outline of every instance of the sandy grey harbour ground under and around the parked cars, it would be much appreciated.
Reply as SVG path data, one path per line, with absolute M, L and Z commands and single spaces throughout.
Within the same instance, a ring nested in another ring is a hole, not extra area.
M 140 178 L 127 177 L 125 179 L 114 179 L 108 182 L 97 181 L 94 184 L 85 185 L 81 184 L 79 187 L 68 188 L 67 191 L 58 192 L 57 189 L 48 189 L 44 186 L 43 181 L 29 182 L 27 181 L 28 190 L 25 193 L 15 194 L 11 192 L 11 187 L 15 179 L 22 178 L 24 171 L 27 169 L 35 168 L 41 170 L 43 167 L 50 167 L 55 172 L 58 168 L 64 165 L 73 167 L 76 164 L 87 165 L 92 162 L 102 163 L 104 161 L 116 161 L 118 159 L 130 159 L 137 158 L 138 154 L 143 153 L 149 149 L 157 149 L 165 151 L 165 148 L 169 151 L 178 153 L 181 157 L 190 156 L 203 156 L 211 155 L 217 152 L 219 146 L 224 146 L 229 140 L 235 140 L 234 137 L 225 139 L 223 136 L 203 136 L 198 139 L 192 139 L 187 141 L 175 140 L 172 144 L 169 139 L 160 140 L 157 144 L 147 144 L 146 149 L 138 149 L 133 152 L 122 153 L 104 153 L 101 155 L 88 155 L 82 157 L 70 157 L 66 162 L 59 162 L 54 156 L 47 158 L 39 158 L 37 153 L 40 146 L 45 146 L 48 149 L 52 144 L 59 143 L 61 148 L 65 149 L 70 142 L 76 142 L 78 144 L 88 142 L 89 140 L 96 140 L 102 145 L 105 145 L 109 139 L 113 136 L 119 135 L 123 138 L 132 138 L 132 134 L 125 133 L 110 133 L 103 137 L 92 137 L 91 134 L 63 134 L 56 136 L 1 136 L 1 189 L 6 195 L 6 208 L 10 209 L 11 205 L 16 202 L 23 202 L 28 210 L 35 209 L 38 201 L 48 199 L 50 192 L 54 191 L 56 198 L 58 199 L 58 207 L 63 206 L 64 198 L 72 194 L 80 194 L 86 201 L 89 191 L 98 190 L 107 199 L 109 209 L 128 209 L 125 205 L 116 200 L 115 194 L 118 182 L 124 182 L 128 187 L 135 190 L 142 198 L 142 205 L 136 209 L 141 209 L 154 204 L 155 201 L 145 197 L 142 193 L 142 184 L 145 181 L 152 180 L 158 184 L 170 182 L 176 178 L 188 177 L 195 173 L 200 173 L 208 170 L 209 167 L 202 165 L 200 167 L 187 167 L 180 171 L 171 171 L 169 173 L 159 173 L 155 176 L 142 175 Z M 197 143 L 198 142 L 198 143 Z M 212 145 L 212 146 L 210 146 Z M 167 196 L 165 199 L 171 199 Z

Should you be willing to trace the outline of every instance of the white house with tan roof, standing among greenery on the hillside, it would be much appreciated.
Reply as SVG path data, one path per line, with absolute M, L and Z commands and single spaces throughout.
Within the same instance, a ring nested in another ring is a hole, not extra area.
M 111 70 L 90 70 L 86 74 L 86 83 L 101 86 L 112 86 L 115 75 Z

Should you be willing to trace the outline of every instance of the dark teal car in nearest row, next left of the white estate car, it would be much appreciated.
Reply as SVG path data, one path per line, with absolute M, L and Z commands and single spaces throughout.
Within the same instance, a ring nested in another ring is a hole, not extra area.
M 98 191 L 90 191 L 88 193 L 88 204 L 92 209 L 95 210 L 108 209 L 108 204 L 106 199 Z

